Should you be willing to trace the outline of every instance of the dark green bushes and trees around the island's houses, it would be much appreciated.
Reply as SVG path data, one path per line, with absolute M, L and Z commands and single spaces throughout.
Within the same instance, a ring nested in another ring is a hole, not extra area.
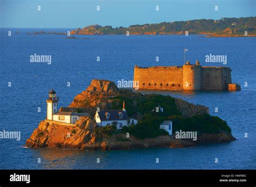
M 174 98 L 157 94 L 146 94 L 143 97 L 133 97 L 129 94 L 121 94 L 114 99 L 112 109 L 120 109 L 125 100 L 126 110 L 129 116 L 139 116 L 137 125 L 124 126 L 121 132 L 129 132 L 139 139 L 154 138 L 159 135 L 167 135 L 165 130 L 160 130 L 159 125 L 164 120 L 173 121 L 173 133 L 182 131 L 197 131 L 201 133 L 231 133 L 226 121 L 208 114 L 183 118 L 178 111 Z M 156 106 L 164 107 L 164 112 L 154 112 Z

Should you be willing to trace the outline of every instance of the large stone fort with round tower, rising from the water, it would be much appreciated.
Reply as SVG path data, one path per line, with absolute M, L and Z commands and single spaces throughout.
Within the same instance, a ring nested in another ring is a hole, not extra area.
M 228 67 L 203 67 L 186 62 L 184 66 L 134 67 L 133 81 L 149 90 L 240 90 L 231 81 Z

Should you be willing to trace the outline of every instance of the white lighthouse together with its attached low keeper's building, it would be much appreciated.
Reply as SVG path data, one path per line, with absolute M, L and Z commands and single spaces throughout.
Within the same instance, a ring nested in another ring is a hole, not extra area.
M 75 124 L 76 121 L 83 116 L 90 116 L 89 113 L 78 113 L 75 110 L 69 112 L 59 111 L 58 108 L 59 97 L 56 96 L 56 92 L 51 89 L 49 91 L 49 98 L 46 100 L 47 103 L 47 114 L 46 119 L 53 121 L 60 121 L 67 124 Z

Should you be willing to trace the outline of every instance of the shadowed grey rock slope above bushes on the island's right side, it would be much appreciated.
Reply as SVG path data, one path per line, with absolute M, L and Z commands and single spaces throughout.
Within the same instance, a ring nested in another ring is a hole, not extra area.
M 186 100 L 175 98 L 175 103 L 180 112 L 184 117 L 192 117 L 195 115 L 209 114 L 209 109 L 203 105 L 194 105 L 186 102 Z

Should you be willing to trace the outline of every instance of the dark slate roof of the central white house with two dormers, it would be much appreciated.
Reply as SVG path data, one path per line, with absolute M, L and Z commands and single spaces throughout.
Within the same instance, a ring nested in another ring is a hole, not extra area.
M 106 119 L 105 114 L 109 113 L 109 119 Z M 120 113 L 123 113 L 123 118 L 119 119 Z M 113 120 L 128 120 L 129 116 L 126 111 L 123 110 L 100 110 L 98 112 L 100 121 L 113 121 Z

